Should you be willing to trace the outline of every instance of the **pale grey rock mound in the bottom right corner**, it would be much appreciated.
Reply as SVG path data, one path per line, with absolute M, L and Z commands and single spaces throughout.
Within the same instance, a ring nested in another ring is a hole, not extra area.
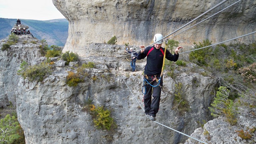
M 203 128 L 198 128 L 191 136 L 206 143 L 222 144 L 248 144 L 255 143 L 255 133 L 251 132 L 256 128 L 255 117 L 240 116 L 235 126 L 230 125 L 226 118 L 219 117 L 208 121 Z M 251 129 L 251 131 L 250 131 Z M 252 138 L 246 140 L 238 136 L 237 131 L 243 130 L 252 135 Z M 254 130 L 255 131 L 255 130 Z M 197 143 L 194 139 L 188 139 L 184 144 Z

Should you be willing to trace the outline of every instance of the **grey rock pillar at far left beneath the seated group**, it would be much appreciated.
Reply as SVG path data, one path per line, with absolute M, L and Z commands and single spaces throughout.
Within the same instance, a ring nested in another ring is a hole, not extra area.
M 11 45 L 10 49 L 0 50 L 0 107 L 6 107 L 6 105 L 10 104 L 9 102 L 14 106 L 16 105 L 16 92 L 20 77 L 17 75 L 17 71 L 21 62 L 24 60 L 29 64 L 35 64 L 36 60 L 41 57 L 39 49 L 41 43 L 38 39 L 30 35 L 18 37 L 18 42 L 15 45 Z M 0 47 L 8 41 L 8 38 L 1 40 Z M 6 100 L 8 101 L 6 102 Z

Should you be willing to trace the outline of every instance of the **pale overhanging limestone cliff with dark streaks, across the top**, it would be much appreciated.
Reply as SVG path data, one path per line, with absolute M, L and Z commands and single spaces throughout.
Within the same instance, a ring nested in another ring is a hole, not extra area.
M 52 1 L 69 21 L 69 36 L 64 51 L 79 51 L 92 42 L 107 42 L 113 36 L 117 36 L 118 44 L 129 42 L 131 45 L 149 45 L 153 43 L 155 33 L 166 36 L 221 2 L 219 0 Z M 236 0 L 225 2 L 197 22 L 234 2 Z M 254 32 L 255 9 L 256 1 L 241 1 L 173 39 L 183 44 L 192 44 L 208 38 L 213 43 L 217 43 Z M 254 40 L 255 35 L 242 38 L 243 42 Z M 83 55 L 84 51 L 79 53 Z

